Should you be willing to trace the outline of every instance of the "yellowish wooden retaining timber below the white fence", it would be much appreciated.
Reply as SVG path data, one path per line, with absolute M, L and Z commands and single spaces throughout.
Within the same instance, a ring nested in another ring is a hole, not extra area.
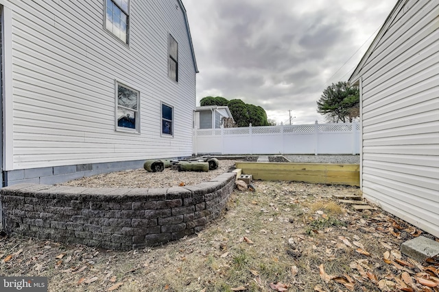
M 359 164 L 247 162 L 237 161 L 242 174 L 263 181 L 303 181 L 359 187 Z

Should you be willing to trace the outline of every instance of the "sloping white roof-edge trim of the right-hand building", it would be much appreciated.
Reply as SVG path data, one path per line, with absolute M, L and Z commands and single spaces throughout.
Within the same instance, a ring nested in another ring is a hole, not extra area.
M 390 12 L 387 18 L 385 18 L 384 24 L 381 27 L 381 29 L 379 29 L 377 36 L 375 36 L 368 50 L 366 51 L 364 56 L 361 58 L 361 61 L 357 65 L 357 68 L 355 68 L 351 77 L 349 77 L 348 81 L 349 83 L 351 83 L 351 85 L 358 85 L 359 77 L 360 77 L 359 73 L 361 71 L 361 68 L 363 68 L 364 64 L 366 64 L 366 61 L 370 58 L 370 55 L 372 55 L 372 52 L 375 50 L 375 47 L 377 47 L 377 44 L 381 41 L 385 33 L 388 31 L 390 25 L 392 25 L 396 16 L 399 15 L 399 12 L 401 12 L 401 10 L 404 8 L 405 4 L 408 1 L 409 0 L 398 0 L 394 5 L 394 8 L 392 9 L 392 12 Z

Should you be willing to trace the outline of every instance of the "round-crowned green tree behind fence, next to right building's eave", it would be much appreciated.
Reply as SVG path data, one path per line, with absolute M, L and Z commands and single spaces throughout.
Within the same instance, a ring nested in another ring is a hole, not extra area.
M 317 101 L 317 112 L 346 122 L 352 122 L 359 109 L 359 88 L 346 81 L 332 83 Z

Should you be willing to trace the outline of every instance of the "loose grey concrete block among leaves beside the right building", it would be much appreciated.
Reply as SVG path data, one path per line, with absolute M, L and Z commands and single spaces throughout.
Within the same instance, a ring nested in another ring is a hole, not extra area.
M 401 252 L 406 256 L 423 262 L 439 254 L 439 242 L 427 237 L 416 237 L 401 244 Z

